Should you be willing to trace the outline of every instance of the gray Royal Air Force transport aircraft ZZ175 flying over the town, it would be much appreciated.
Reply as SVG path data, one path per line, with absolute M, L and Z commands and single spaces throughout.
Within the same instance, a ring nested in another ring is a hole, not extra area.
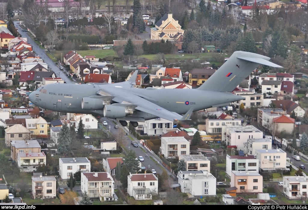
M 43 110 L 101 115 L 119 120 L 122 126 L 130 121 L 137 127 L 138 122 L 159 117 L 177 123 L 188 120 L 193 111 L 244 99 L 227 91 L 233 91 L 260 64 L 282 68 L 269 60 L 251 52 L 234 52 L 197 89 L 135 88 L 135 71 L 128 81 L 115 84 L 49 84 L 33 91 L 29 100 Z

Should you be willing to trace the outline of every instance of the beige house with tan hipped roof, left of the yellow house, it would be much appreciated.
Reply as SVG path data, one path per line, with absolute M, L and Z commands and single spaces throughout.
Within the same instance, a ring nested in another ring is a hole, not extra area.
M 10 142 L 18 141 L 18 140 L 29 140 L 31 131 L 26 127 L 15 124 L 11 127 L 5 129 L 5 144 L 6 146 L 10 146 Z

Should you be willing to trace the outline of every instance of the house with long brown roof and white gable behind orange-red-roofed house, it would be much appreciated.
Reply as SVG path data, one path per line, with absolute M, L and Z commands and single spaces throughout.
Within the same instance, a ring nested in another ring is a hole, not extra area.
M 298 104 L 298 101 L 293 102 L 291 100 L 272 100 L 271 103 L 275 104 L 278 109 L 286 110 L 288 115 L 292 115 L 293 111 L 295 116 L 302 117 L 305 114 L 305 110 Z

